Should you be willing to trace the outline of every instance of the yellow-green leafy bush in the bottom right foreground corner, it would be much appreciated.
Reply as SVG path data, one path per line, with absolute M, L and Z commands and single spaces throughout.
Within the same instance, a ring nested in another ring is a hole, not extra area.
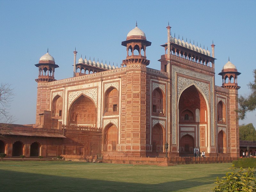
M 224 191 L 224 192 L 233 192 L 233 191 L 249 191 L 253 192 L 256 188 L 254 171 L 251 168 L 243 169 L 242 167 L 238 172 L 235 172 L 234 164 L 230 168 L 232 172 L 227 172 L 225 177 L 219 179 L 217 177 L 216 183 L 217 186 L 213 191 Z

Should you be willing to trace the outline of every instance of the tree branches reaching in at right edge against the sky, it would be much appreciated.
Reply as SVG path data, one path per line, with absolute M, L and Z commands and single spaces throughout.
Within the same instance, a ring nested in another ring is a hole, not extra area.
M 242 95 L 238 97 L 239 118 L 242 120 L 245 118 L 246 112 L 254 111 L 256 109 L 256 69 L 254 69 L 253 73 L 254 82 L 250 82 L 248 84 L 249 88 L 252 90 L 251 94 L 248 97 L 244 97 Z

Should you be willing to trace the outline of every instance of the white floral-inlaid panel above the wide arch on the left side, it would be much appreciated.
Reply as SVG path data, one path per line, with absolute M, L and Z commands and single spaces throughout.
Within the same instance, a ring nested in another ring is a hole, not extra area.
M 73 92 L 69 92 L 68 93 L 68 108 L 70 107 L 70 104 L 80 95 L 80 94 L 84 94 L 90 98 L 92 98 L 92 100 L 95 102 L 96 106 L 97 106 L 97 92 L 98 89 L 94 88 L 94 89 L 86 89 L 86 90 L 81 90 L 81 91 L 73 91 Z

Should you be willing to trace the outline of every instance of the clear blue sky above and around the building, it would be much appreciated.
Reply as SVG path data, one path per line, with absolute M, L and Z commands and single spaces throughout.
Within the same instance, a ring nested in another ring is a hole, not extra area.
M 79 57 L 113 64 L 122 63 L 126 48 L 121 42 L 135 27 L 143 30 L 147 40 L 148 67 L 160 69 L 161 44 L 167 42 L 166 26 L 172 36 L 183 36 L 209 48 L 215 46 L 216 85 L 221 86 L 223 65 L 230 61 L 239 72 L 239 94 L 248 95 L 247 84 L 253 81 L 256 68 L 256 1 L 76 1 L 76 0 L 1 0 L 1 68 L 0 81 L 12 84 L 16 93 L 10 114 L 16 124 L 36 121 L 34 64 L 47 52 L 60 66 L 55 78 L 73 76 L 73 51 Z M 256 112 L 245 121 L 256 127 Z

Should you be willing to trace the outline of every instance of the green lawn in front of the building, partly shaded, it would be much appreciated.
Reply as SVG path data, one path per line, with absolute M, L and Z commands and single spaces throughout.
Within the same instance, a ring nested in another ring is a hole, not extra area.
M 0 162 L 0 191 L 212 191 L 231 163 L 151 165 Z

